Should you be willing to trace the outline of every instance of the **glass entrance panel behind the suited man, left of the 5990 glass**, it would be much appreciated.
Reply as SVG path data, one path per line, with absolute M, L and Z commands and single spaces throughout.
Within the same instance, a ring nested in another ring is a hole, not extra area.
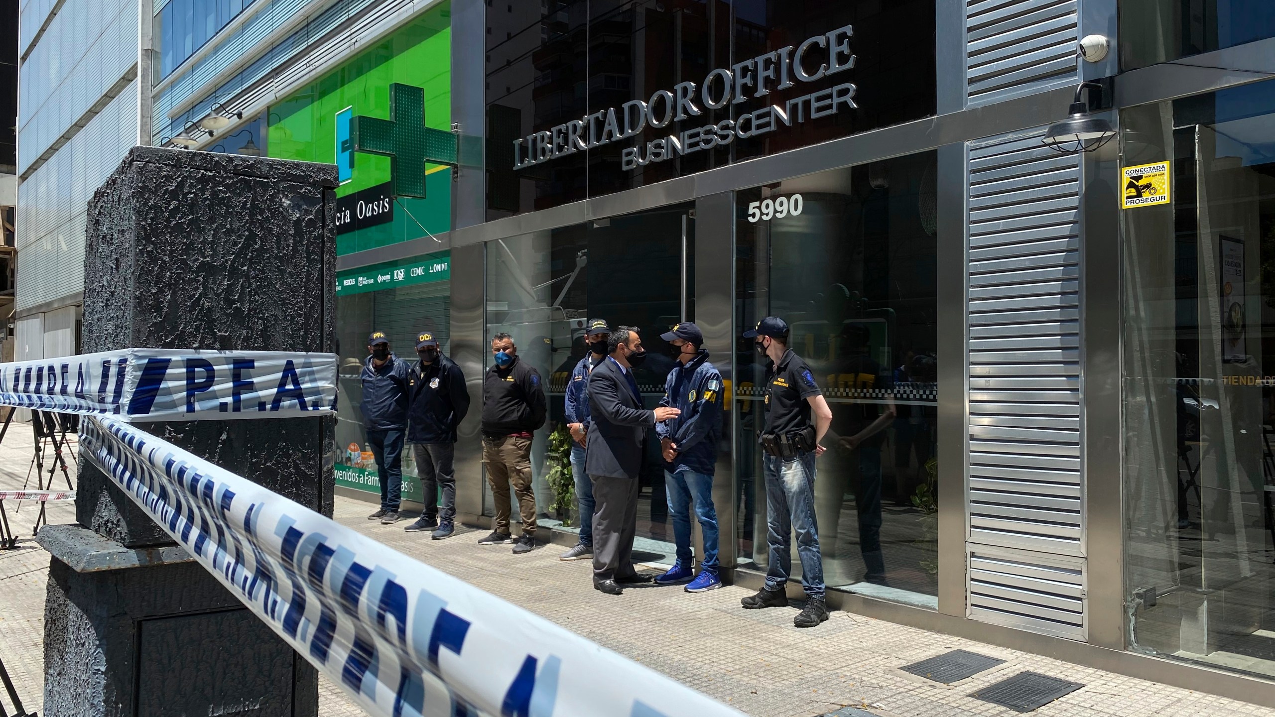
M 547 379 L 548 421 L 532 444 L 536 505 L 542 524 L 557 526 L 566 519 L 572 527 L 579 526 L 572 510 L 550 510 L 553 491 L 546 473 L 565 458 L 551 450 L 550 435 L 566 431 L 566 384 L 575 364 L 584 357 L 586 319 L 636 327 L 650 353 L 635 371 L 643 401 L 654 408 L 664 395 L 664 378 L 673 358 L 663 351 L 666 344 L 659 334 L 695 316 L 691 209 L 692 205 L 664 207 L 487 244 L 487 338 L 509 333 L 520 360 Z M 490 352 L 486 367 L 491 367 Z M 672 526 L 659 444 L 653 441 L 648 448 L 648 464 L 640 478 L 636 551 L 641 560 L 672 561 Z M 483 505 L 490 512 L 492 498 L 486 484 L 483 491 Z

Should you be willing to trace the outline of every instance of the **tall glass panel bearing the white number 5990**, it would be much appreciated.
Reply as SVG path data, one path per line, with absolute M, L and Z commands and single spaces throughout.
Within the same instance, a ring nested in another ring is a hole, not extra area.
M 788 322 L 833 410 L 815 480 L 827 586 L 937 607 L 935 153 L 740 191 L 736 207 L 736 325 Z M 740 566 L 756 570 L 762 361 L 741 339 L 737 537 Z

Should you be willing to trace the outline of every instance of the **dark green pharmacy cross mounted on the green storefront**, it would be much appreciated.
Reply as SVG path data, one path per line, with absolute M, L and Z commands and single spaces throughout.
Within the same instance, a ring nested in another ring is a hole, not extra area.
M 390 84 L 390 115 L 393 120 L 351 117 L 351 148 L 389 157 L 393 194 L 423 199 L 426 162 L 458 166 L 456 134 L 425 126 L 425 89 L 419 87 Z

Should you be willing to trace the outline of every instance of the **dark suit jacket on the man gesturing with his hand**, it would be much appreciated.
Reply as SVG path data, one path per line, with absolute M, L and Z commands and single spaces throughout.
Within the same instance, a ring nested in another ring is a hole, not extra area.
M 643 444 L 655 415 L 641 407 L 620 365 L 607 357 L 589 376 L 589 432 L 584 472 L 634 478 L 641 473 Z

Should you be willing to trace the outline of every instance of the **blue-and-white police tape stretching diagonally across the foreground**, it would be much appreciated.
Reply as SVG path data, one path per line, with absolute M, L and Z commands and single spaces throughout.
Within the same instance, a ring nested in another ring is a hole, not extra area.
M 110 417 L 84 455 L 371 714 L 741 713 Z

